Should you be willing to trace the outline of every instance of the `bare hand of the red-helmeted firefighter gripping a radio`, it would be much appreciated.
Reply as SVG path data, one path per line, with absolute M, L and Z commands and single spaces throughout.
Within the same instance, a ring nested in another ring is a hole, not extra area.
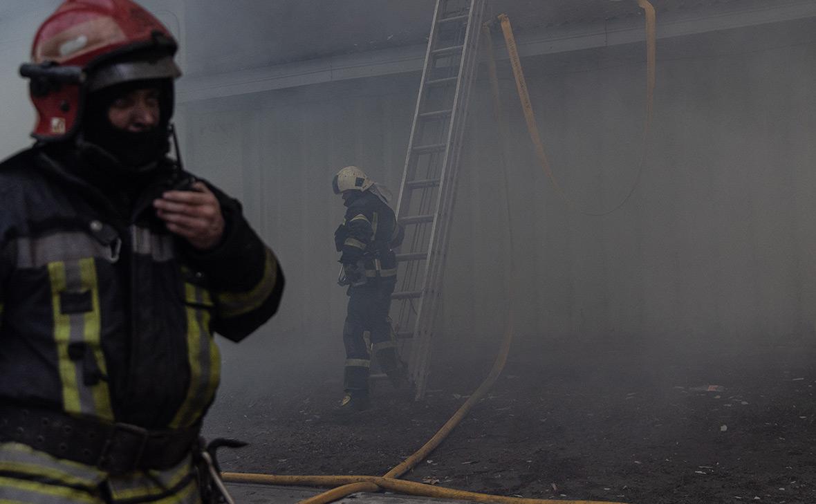
M 156 214 L 170 232 L 186 239 L 197 250 L 208 250 L 224 236 L 221 206 L 206 184 L 193 183 L 192 191 L 167 191 L 153 200 Z

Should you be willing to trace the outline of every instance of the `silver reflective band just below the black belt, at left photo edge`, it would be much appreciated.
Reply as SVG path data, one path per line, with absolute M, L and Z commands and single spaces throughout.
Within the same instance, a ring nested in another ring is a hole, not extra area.
M 25 444 L 0 444 L 0 472 L 45 476 L 73 486 L 95 489 L 105 474 L 95 467 L 60 460 Z

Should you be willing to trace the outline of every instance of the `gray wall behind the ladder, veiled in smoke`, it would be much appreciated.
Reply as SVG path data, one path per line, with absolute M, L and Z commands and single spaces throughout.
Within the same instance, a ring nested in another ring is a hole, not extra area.
M 641 45 L 526 60 L 552 169 L 573 209 L 535 165 L 502 70 L 520 338 L 736 349 L 812 336 L 809 33 L 812 20 L 661 42 L 642 171 Z M 264 329 L 283 342 L 339 348 L 345 298 L 334 284 L 332 232 L 343 208 L 330 177 L 356 163 L 397 189 L 418 79 L 184 104 L 188 166 L 242 197 L 286 268 L 282 314 Z M 446 270 L 446 351 L 491 345 L 510 274 L 499 141 L 483 78 L 474 96 Z M 575 210 L 614 208 L 632 186 L 611 214 Z

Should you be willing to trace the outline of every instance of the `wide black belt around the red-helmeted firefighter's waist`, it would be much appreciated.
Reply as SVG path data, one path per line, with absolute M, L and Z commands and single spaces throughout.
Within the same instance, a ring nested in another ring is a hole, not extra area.
M 137 469 L 170 469 L 190 453 L 199 431 L 200 425 L 148 430 L 51 409 L 0 405 L 0 441 L 28 444 L 113 475 Z

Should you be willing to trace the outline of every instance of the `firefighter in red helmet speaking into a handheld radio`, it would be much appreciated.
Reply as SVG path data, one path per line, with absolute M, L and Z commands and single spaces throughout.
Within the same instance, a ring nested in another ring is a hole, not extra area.
M 0 502 L 215 502 L 213 332 L 251 334 L 283 277 L 167 156 L 175 49 L 130 0 L 67 0 L 20 67 L 38 122 L 0 165 Z

